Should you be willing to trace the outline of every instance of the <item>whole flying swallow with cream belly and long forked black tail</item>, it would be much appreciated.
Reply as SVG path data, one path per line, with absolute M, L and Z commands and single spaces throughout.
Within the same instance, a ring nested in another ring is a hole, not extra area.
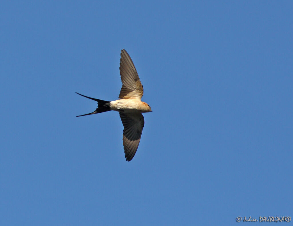
M 119 99 L 116 101 L 103 101 L 96 98 L 84 96 L 98 102 L 98 108 L 95 111 L 84 114 L 93 115 L 106 111 L 118 111 L 123 124 L 123 147 L 126 161 L 130 161 L 138 148 L 142 128 L 144 127 L 144 116 L 142 113 L 150 112 L 151 107 L 141 101 L 144 94 L 144 88 L 138 77 L 134 64 L 125 49 L 120 54 L 120 77 L 122 87 Z M 78 115 L 76 117 L 84 116 Z

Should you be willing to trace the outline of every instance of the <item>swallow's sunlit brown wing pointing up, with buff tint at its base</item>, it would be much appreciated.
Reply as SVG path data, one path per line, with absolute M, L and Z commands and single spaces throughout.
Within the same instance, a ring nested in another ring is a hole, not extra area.
M 139 80 L 134 64 L 125 49 L 121 50 L 120 76 L 122 88 L 119 94 L 120 99 L 142 98 L 144 88 Z

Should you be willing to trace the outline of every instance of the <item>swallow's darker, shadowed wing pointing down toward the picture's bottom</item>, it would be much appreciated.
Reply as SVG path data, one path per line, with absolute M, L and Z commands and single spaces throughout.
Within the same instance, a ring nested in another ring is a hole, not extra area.
M 130 161 L 138 148 L 142 128 L 144 127 L 144 116 L 142 113 L 121 113 L 120 118 L 124 126 L 123 147 L 126 161 Z

